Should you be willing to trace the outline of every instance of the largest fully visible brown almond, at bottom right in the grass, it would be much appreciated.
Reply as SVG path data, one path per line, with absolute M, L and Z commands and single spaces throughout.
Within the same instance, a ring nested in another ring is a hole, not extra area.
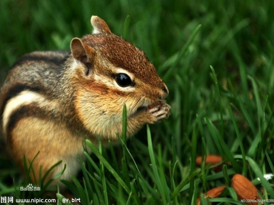
M 257 188 L 246 177 L 235 174 L 231 180 L 231 187 L 235 190 L 238 199 L 260 199 Z M 258 202 L 246 202 L 249 205 L 257 205 Z

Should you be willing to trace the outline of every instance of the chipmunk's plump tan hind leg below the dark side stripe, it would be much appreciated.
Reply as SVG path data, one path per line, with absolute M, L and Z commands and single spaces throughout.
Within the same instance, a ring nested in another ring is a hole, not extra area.
M 64 126 L 58 126 L 48 120 L 27 117 L 18 121 L 11 131 L 10 150 L 22 170 L 24 169 L 24 155 L 28 166 L 32 162 L 30 177 L 34 183 L 39 183 L 39 178 L 42 179 L 47 171 L 61 160 L 62 163 L 46 176 L 44 184 L 61 173 L 65 164 L 66 169 L 60 179 L 70 180 L 70 174 L 75 175 L 76 167 L 79 167 L 77 154 L 83 153 L 82 140 L 79 137 L 70 139 L 71 137 Z M 71 154 L 68 149 L 70 152 L 74 150 L 78 153 Z M 59 179 L 55 179 L 52 185 L 58 181 Z

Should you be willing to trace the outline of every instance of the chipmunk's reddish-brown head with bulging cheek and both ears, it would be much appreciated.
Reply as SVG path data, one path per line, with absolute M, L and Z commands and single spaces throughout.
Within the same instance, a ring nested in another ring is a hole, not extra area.
M 127 116 L 134 116 L 166 98 L 168 89 L 143 51 L 114 35 L 101 18 L 92 16 L 91 24 L 92 35 L 71 42 L 76 109 L 89 130 L 111 129 L 121 122 L 124 104 Z

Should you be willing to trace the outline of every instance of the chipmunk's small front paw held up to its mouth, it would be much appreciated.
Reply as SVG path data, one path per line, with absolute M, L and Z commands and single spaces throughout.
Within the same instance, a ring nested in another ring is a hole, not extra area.
M 170 105 L 164 100 L 159 100 L 149 105 L 146 108 L 148 123 L 152 124 L 158 122 L 164 118 L 168 118 L 170 115 Z

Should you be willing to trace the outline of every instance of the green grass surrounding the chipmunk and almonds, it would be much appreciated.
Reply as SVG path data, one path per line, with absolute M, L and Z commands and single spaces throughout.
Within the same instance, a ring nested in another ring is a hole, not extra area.
M 85 153 L 82 171 L 64 181 L 76 198 L 82 204 L 191 205 L 201 193 L 227 185 L 220 198 L 202 204 L 243 204 L 229 187 L 240 173 L 260 198 L 274 199 L 274 181 L 264 178 L 274 173 L 273 9 L 273 1 L 251 0 L 1 0 L 0 82 L 24 53 L 69 49 L 73 37 L 92 31 L 91 15 L 100 16 L 147 53 L 168 86 L 172 110 L 168 120 L 127 142 L 123 134 L 121 145 L 97 149 L 87 141 L 93 154 Z M 29 181 L 2 142 L 1 148 L 0 196 L 42 196 L 18 190 Z M 209 154 L 223 157 L 221 171 L 196 166 L 196 156 Z

